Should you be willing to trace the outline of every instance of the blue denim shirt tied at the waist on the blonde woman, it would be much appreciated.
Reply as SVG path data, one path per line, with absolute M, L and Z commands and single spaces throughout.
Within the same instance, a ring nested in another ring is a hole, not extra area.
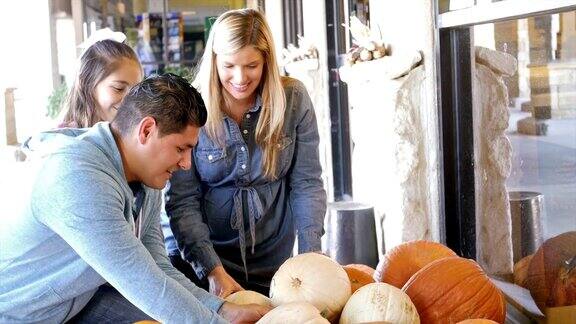
M 201 130 L 192 168 L 170 181 L 166 213 L 174 236 L 165 231 L 167 247 L 171 254 L 180 251 L 200 278 L 223 264 L 233 276 L 246 273 L 251 282 L 267 286 L 290 257 L 296 232 L 299 253 L 321 249 L 326 193 L 316 117 L 303 84 L 284 81 L 277 180 L 263 176 L 262 150 L 255 142 L 257 100 L 240 125 L 223 118 L 225 147 Z M 168 230 L 166 220 L 164 225 Z

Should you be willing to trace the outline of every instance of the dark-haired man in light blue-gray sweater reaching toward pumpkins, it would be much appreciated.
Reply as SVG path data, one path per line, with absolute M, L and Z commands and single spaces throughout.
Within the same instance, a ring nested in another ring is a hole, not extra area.
M 161 189 L 190 168 L 205 122 L 198 92 L 165 75 L 134 86 L 111 123 L 30 141 L 41 167 L 25 211 L 0 224 L 0 322 L 221 323 L 266 313 L 196 287 L 164 249 Z

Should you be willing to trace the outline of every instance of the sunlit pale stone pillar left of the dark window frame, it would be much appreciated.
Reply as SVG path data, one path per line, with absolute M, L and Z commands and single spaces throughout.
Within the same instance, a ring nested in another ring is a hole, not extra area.
M 425 69 L 412 69 L 418 62 L 419 54 L 404 53 L 340 69 L 352 106 L 354 201 L 374 206 L 387 249 L 434 239 L 430 156 L 436 151 L 427 145 L 426 130 L 436 121 L 425 118 Z

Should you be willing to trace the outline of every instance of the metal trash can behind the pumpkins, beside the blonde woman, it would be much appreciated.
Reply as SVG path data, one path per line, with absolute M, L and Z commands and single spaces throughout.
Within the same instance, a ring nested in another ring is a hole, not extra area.
M 328 204 L 324 252 L 338 263 L 378 264 L 374 208 L 340 201 Z

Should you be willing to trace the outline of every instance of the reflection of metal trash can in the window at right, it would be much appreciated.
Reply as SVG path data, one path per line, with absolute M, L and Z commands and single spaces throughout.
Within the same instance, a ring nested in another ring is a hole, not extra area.
M 516 263 L 536 252 L 544 241 L 544 196 L 539 192 L 510 191 L 508 197 L 512 217 L 512 252 Z

